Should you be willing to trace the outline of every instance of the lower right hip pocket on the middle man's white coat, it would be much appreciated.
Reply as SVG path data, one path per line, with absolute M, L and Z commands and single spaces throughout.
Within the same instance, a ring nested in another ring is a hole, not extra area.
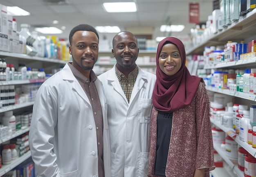
M 139 153 L 139 157 L 137 159 L 138 177 L 147 176 L 147 174 L 148 174 L 148 159 L 149 159 L 149 153 Z

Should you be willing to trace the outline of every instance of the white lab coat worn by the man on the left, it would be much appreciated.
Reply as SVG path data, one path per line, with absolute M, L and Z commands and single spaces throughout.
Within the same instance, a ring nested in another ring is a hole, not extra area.
M 103 160 L 110 177 L 107 103 L 95 81 L 103 113 Z M 98 177 L 97 135 L 92 107 L 66 64 L 39 88 L 33 107 L 29 146 L 39 175 Z

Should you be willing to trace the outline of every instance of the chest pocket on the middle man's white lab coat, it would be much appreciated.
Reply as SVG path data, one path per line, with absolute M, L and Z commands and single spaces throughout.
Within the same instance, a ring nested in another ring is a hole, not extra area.
M 152 99 L 139 99 L 138 119 L 140 123 L 150 122 L 152 107 Z

